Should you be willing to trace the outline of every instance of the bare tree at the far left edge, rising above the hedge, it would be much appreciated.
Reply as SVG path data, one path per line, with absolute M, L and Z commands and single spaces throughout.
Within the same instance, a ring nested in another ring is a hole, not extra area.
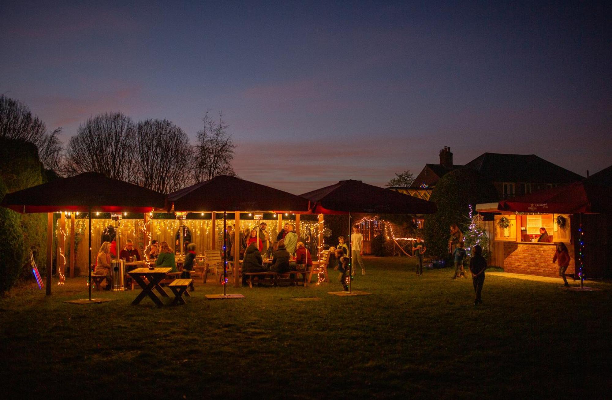
M 0 96 L 0 137 L 20 139 L 33 143 L 39 152 L 43 166 L 53 171 L 59 170 L 63 150 L 58 128 L 48 133 L 45 124 L 24 103 L 5 95 Z

